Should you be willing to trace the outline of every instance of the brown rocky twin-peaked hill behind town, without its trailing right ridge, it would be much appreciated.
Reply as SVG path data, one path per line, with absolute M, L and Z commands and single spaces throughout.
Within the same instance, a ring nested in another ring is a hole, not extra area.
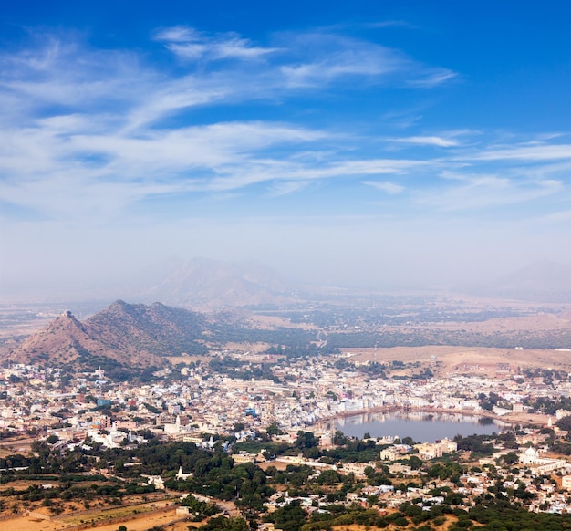
M 165 356 L 202 353 L 206 319 L 195 312 L 116 301 L 79 322 L 70 312 L 26 338 L 7 359 L 74 370 L 137 372 L 165 365 Z

